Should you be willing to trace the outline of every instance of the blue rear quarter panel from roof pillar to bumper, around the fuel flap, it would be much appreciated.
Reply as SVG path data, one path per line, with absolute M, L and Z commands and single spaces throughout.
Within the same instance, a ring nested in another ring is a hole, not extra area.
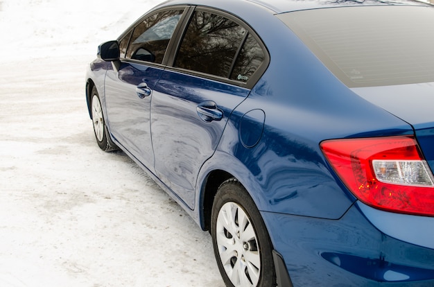
M 351 92 L 279 20 L 266 23 L 252 26 L 268 47 L 270 65 L 232 113 L 202 173 L 212 168 L 231 173 L 261 211 L 340 218 L 355 198 L 325 161 L 320 142 L 413 130 Z M 261 139 L 247 147 L 240 123 L 252 110 L 263 110 L 265 123 Z

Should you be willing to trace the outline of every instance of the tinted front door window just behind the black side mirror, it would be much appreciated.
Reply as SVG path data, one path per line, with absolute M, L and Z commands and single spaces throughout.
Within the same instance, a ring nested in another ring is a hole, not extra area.
M 126 58 L 161 64 L 182 10 L 158 12 L 134 28 Z

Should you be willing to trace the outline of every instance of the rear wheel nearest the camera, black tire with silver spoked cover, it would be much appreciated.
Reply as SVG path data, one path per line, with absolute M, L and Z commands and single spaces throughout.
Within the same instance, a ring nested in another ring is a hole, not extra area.
M 211 237 L 226 286 L 276 286 L 266 225 L 244 186 L 234 178 L 223 182 L 216 193 Z

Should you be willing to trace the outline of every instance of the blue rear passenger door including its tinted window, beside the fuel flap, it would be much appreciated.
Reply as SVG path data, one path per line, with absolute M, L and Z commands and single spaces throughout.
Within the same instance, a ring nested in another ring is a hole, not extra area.
M 249 51 L 241 49 L 247 46 Z M 253 50 L 257 58 L 249 56 Z M 155 87 L 155 172 L 191 209 L 200 167 L 216 150 L 232 110 L 248 96 L 246 82 L 263 58 L 240 21 L 196 8 L 171 67 Z

